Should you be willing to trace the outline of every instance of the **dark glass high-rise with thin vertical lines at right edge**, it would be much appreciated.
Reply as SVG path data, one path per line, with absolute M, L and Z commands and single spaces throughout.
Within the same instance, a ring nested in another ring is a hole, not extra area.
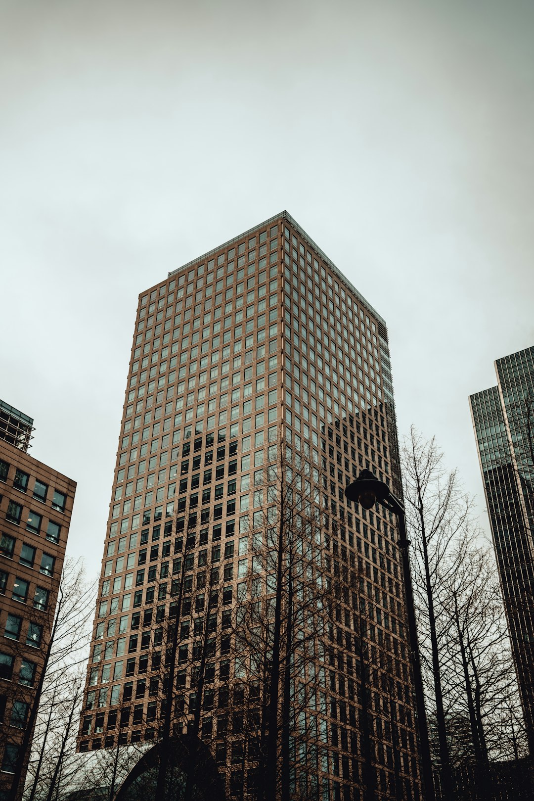
M 534 348 L 495 362 L 470 396 L 530 753 L 534 753 Z

